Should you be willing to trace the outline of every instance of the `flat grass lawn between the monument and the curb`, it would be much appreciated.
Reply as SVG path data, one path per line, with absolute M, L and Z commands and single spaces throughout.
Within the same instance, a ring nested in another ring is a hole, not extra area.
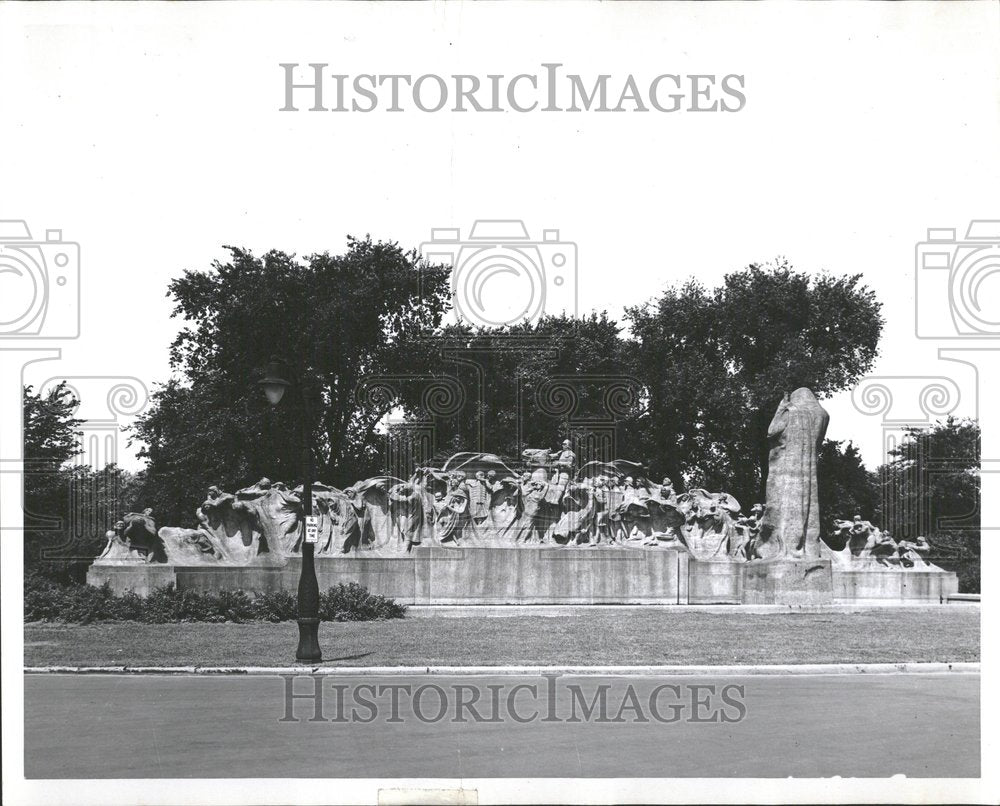
M 284 666 L 282 624 L 26 624 L 26 666 Z M 979 608 L 855 613 L 600 611 L 320 625 L 323 661 L 346 666 L 659 665 L 978 661 Z

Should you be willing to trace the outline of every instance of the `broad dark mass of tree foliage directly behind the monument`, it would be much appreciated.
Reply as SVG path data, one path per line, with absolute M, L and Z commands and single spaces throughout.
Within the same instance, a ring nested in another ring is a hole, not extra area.
M 595 312 L 445 326 L 449 280 L 370 237 L 304 259 L 230 247 L 228 261 L 184 272 L 168 289 L 183 320 L 174 377 L 132 432 L 148 505 L 189 523 L 210 484 L 301 480 L 303 429 L 316 476 L 334 484 L 461 450 L 516 458 L 570 437 L 583 461 L 634 459 L 749 503 L 782 393 L 849 387 L 883 324 L 860 275 L 812 276 L 784 260 L 714 289 L 670 286 L 621 323 Z M 254 389 L 275 354 L 303 381 L 304 409 L 290 395 L 272 410 Z

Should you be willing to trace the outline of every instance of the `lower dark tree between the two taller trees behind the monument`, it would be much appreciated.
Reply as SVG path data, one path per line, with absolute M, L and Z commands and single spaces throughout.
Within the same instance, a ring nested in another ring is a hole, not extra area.
M 551 449 L 567 437 L 582 448 L 582 461 L 615 458 L 606 451 L 624 438 L 623 424 L 642 391 L 620 330 L 607 313 L 490 329 L 446 327 L 415 359 L 432 371 L 397 385 L 403 413 L 409 426 L 423 423 L 433 431 L 439 460 L 477 450 L 517 460 L 524 448 Z

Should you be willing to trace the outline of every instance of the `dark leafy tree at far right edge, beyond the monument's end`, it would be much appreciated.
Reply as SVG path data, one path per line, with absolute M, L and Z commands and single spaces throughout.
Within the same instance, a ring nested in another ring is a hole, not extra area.
M 962 590 L 980 584 L 980 429 L 949 417 L 906 429 L 879 468 L 878 523 L 896 538 L 927 537 L 933 561 L 959 575 Z

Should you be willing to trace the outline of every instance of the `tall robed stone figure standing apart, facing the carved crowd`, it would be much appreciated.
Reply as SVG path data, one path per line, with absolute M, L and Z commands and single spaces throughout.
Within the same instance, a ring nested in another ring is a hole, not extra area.
M 761 559 L 820 556 L 816 461 L 830 415 L 806 388 L 783 400 L 767 430 L 767 506 L 761 522 Z

